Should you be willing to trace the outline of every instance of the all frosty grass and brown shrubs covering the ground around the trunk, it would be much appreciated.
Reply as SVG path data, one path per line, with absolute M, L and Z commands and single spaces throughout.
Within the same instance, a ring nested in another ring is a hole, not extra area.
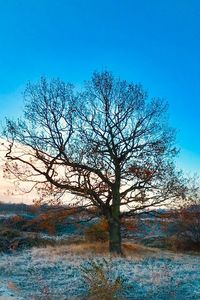
M 48 210 L 26 207 L 0 220 L 0 297 L 200 298 L 197 208 L 122 220 L 123 256 L 109 253 L 106 219 L 55 218 L 51 231 Z

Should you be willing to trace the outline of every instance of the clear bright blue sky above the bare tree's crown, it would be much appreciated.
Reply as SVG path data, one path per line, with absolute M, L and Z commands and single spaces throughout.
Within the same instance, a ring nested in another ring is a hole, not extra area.
M 0 0 L 2 119 L 20 114 L 28 80 L 79 85 L 105 68 L 168 100 L 178 165 L 198 172 L 199 0 Z

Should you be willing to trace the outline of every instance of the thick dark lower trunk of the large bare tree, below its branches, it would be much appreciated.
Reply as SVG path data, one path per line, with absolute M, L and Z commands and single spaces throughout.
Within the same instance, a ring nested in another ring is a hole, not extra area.
M 120 219 L 114 216 L 109 218 L 109 250 L 113 254 L 122 254 Z

